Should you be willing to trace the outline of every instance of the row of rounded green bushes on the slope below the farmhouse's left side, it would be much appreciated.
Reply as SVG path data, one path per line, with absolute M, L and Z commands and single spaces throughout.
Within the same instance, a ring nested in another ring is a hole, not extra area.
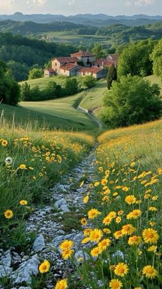
M 30 88 L 27 82 L 21 86 L 22 101 L 43 101 L 49 99 L 57 99 L 58 97 L 66 97 L 80 91 L 76 78 L 66 79 L 64 86 L 60 86 L 55 81 L 50 81 L 47 86 L 40 90 L 38 86 Z

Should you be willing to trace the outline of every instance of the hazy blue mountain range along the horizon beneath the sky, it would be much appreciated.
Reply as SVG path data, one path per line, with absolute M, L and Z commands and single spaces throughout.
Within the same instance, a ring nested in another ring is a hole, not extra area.
M 16 12 L 11 15 L 0 15 L 0 20 L 10 19 L 13 21 L 33 21 L 36 23 L 49 23 L 54 21 L 65 21 L 76 24 L 86 24 L 91 26 L 106 26 L 113 23 L 120 23 L 128 26 L 140 26 L 155 21 L 162 20 L 162 16 L 149 16 L 144 14 L 126 16 L 109 16 L 106 14 L 77 14 L 71 16 L 64 16 L 61 14 L 23 14 Z

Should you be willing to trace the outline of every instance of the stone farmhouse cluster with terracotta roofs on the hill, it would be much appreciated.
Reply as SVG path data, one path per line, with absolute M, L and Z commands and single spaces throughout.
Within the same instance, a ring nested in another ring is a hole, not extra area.
M 118 56 L 115 54 L 95 60 L 91 52 L 81 51 L 69 57 L 56 57 L 51 59 L 51 68 L 44 70 L 44 77 L 64 75 L 66 77 L 91 75 L 95 79 L 106 77 L 108 67 L 117 66 Z

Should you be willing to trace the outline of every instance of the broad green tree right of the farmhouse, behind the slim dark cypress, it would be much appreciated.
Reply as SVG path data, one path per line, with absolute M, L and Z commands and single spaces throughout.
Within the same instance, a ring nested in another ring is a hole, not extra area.
M 152 61 L 150 54 L 154 49 L 155 41 L 139 41 L 132 43 L 122 51 L 119 57 L 117 76 L 131 74 L 145 77 L 152 74 Z

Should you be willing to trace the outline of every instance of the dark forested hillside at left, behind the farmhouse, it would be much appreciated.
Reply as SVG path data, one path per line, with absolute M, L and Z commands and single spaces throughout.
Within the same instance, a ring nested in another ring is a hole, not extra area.
M 32 68 L 43 67 L 49 59 L 76 52 L 69 44 L 47 43 L 10 32 L 0 33 L 0 59 L 8 64 L 17 81 L 27 79 Z

